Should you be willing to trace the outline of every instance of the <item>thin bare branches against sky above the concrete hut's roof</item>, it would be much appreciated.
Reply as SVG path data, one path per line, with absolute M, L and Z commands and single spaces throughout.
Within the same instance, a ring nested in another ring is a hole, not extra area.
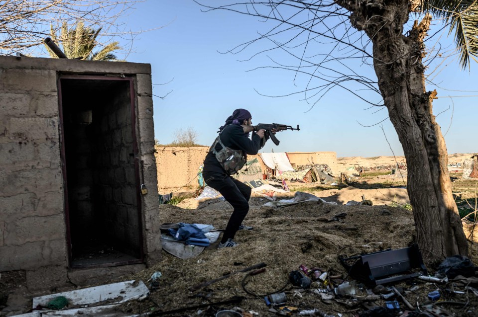
M 0 52 L 31 52 L 62 23 L 102 27 L 102 36 L 123 35 L 119 17 L 141 0 L 3 0 L 0 3 Z

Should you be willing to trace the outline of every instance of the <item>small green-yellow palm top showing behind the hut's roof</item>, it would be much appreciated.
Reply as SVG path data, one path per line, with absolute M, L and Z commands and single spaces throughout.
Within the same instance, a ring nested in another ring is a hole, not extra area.
M 60 36 L 56 36 L 56 31 L 53 26 L 50 26 L 50 37 L 61 47 L 65 55 L 69 59 L 81 59 L 87 61 L 119 61 L 113 51 L 120 50 L 119 42 L 112 42 L 101 50 L 93 52 L 93 49 L 98 45 L 97 37 L 102 28 L 94 29 L 92 27 L 85 27 L 82 21 L 76 25 L 68 27 L 68 23 L 64 22 L 60 28 Z M 46 46 L 46 45 L 45 45 Z M 48 54 L 52 58 L 58 58 L 55 53 L 48 46 L 46 46 Z

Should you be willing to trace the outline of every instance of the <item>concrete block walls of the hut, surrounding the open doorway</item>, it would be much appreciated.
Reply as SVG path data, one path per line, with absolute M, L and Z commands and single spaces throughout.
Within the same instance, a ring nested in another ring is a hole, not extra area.
M 142 244 L 148 264 L 161 259 L 158 198 L 151 190 L 157 187 L 157 175 L 150 65 L 0 56 L 0 272 L 25 271 L 29 289 L 67 285 L 68 274 L 75 272 L 68 271 L 59 74 L 135 79 L 137 159 L 142 182 L 150 189 L 141 197 Z M 119 156 L 124 159 L 128 153 L 120 151 Z M 49 283 L 37 283 L 38 274 Z

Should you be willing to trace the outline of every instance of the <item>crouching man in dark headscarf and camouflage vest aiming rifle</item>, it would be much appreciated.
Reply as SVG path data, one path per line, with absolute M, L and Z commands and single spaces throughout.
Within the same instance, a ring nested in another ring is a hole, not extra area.
M 237 245 L 234 236 L 249 211 L 251 189 L 231 177 L 231 174 L 243 166 L 247 154 L 255 155 L 264 146 L 265 130 L 254 130 L 250 112 L 245 109 L 234 110 L 226 124 L 219 128 L 218 139 L 204 159 L 203 176 L 206 184 L 219 191 L 234 208 L 219 248 Z M 248 137 L 249 132 L 252 132 L 251 139 Z

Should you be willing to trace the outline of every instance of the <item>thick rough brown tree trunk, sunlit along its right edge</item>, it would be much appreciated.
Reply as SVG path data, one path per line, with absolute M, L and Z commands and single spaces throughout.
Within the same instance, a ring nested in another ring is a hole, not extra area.
M 432 112 L 436 91 L 425 89 L 423 38 L 431 16 L 415 21 L 407 36 L 408 0 L 350 2 L 352 24 L 373 43 L 378 86 L 407 161 L 407 190 L 413 206 L 416 238 L 426 263 L 468 255 L 468 242 L 455 204 L 448 174 L 448 154 Z M 374 3 L 375 6 L 370 5 Z

